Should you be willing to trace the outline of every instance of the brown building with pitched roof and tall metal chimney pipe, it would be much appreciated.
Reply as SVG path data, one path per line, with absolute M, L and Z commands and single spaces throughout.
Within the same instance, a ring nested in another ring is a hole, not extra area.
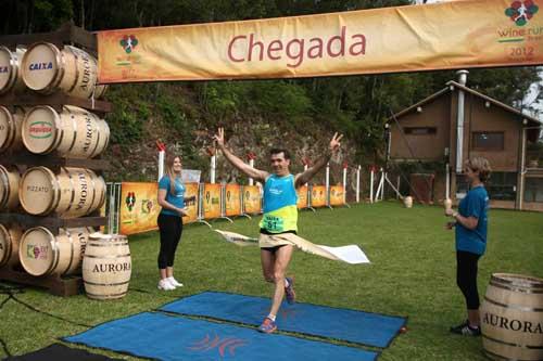
M 464 162 L 482 156 L 492 167 L 491 207 L 543 210 L 543 164 L 528 152 L 542 123 L 467 87 L 467 73 L 388 119 L 389 168 L 414 165 L 402 189 L 415 199 L 457 202 L 468 191 Z

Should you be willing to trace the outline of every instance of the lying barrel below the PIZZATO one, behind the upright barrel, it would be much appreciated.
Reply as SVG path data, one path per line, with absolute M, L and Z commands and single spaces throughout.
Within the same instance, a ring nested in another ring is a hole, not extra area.
M 54 235 L 45 227 L 27 230 L 21 237 L 18 259 L 31 275 L 74 274 L 80 271 L 87 228 L 59 229 Z

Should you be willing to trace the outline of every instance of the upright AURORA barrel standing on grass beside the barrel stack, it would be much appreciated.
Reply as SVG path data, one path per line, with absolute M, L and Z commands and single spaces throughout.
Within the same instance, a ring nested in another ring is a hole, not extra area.
M 121 234 L 91 234 L 83 259 L 83 282 L 87 296 L 93 299 L 124 297 L 130 275 L 127 237 Z

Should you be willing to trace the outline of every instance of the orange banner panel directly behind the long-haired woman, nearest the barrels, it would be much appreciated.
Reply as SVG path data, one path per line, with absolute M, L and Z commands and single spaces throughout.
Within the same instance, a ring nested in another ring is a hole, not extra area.
M 156 230 L 161 206 L 156 201 L 159 183 L 121 184 L 119 233 L 135 234 Z

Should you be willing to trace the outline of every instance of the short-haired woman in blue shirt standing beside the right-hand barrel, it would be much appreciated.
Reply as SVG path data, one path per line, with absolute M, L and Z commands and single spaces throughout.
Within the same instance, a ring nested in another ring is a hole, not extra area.
M 479 336 L 479 292 L 477 289 L 477 263 L 487 249 L 487 211 L 489 194 L 484 182 L 490 176 L 489 160 L 475 157 L 465 164 L 464 172 L 469 180 L 470 190 L 460 201 L 458 211 L 451 208 L 445 215 L 455 219 L 447 228 L 456 227 L 456 284 L 466 298 L 468 319 L 451 332 L 467 336 Z

